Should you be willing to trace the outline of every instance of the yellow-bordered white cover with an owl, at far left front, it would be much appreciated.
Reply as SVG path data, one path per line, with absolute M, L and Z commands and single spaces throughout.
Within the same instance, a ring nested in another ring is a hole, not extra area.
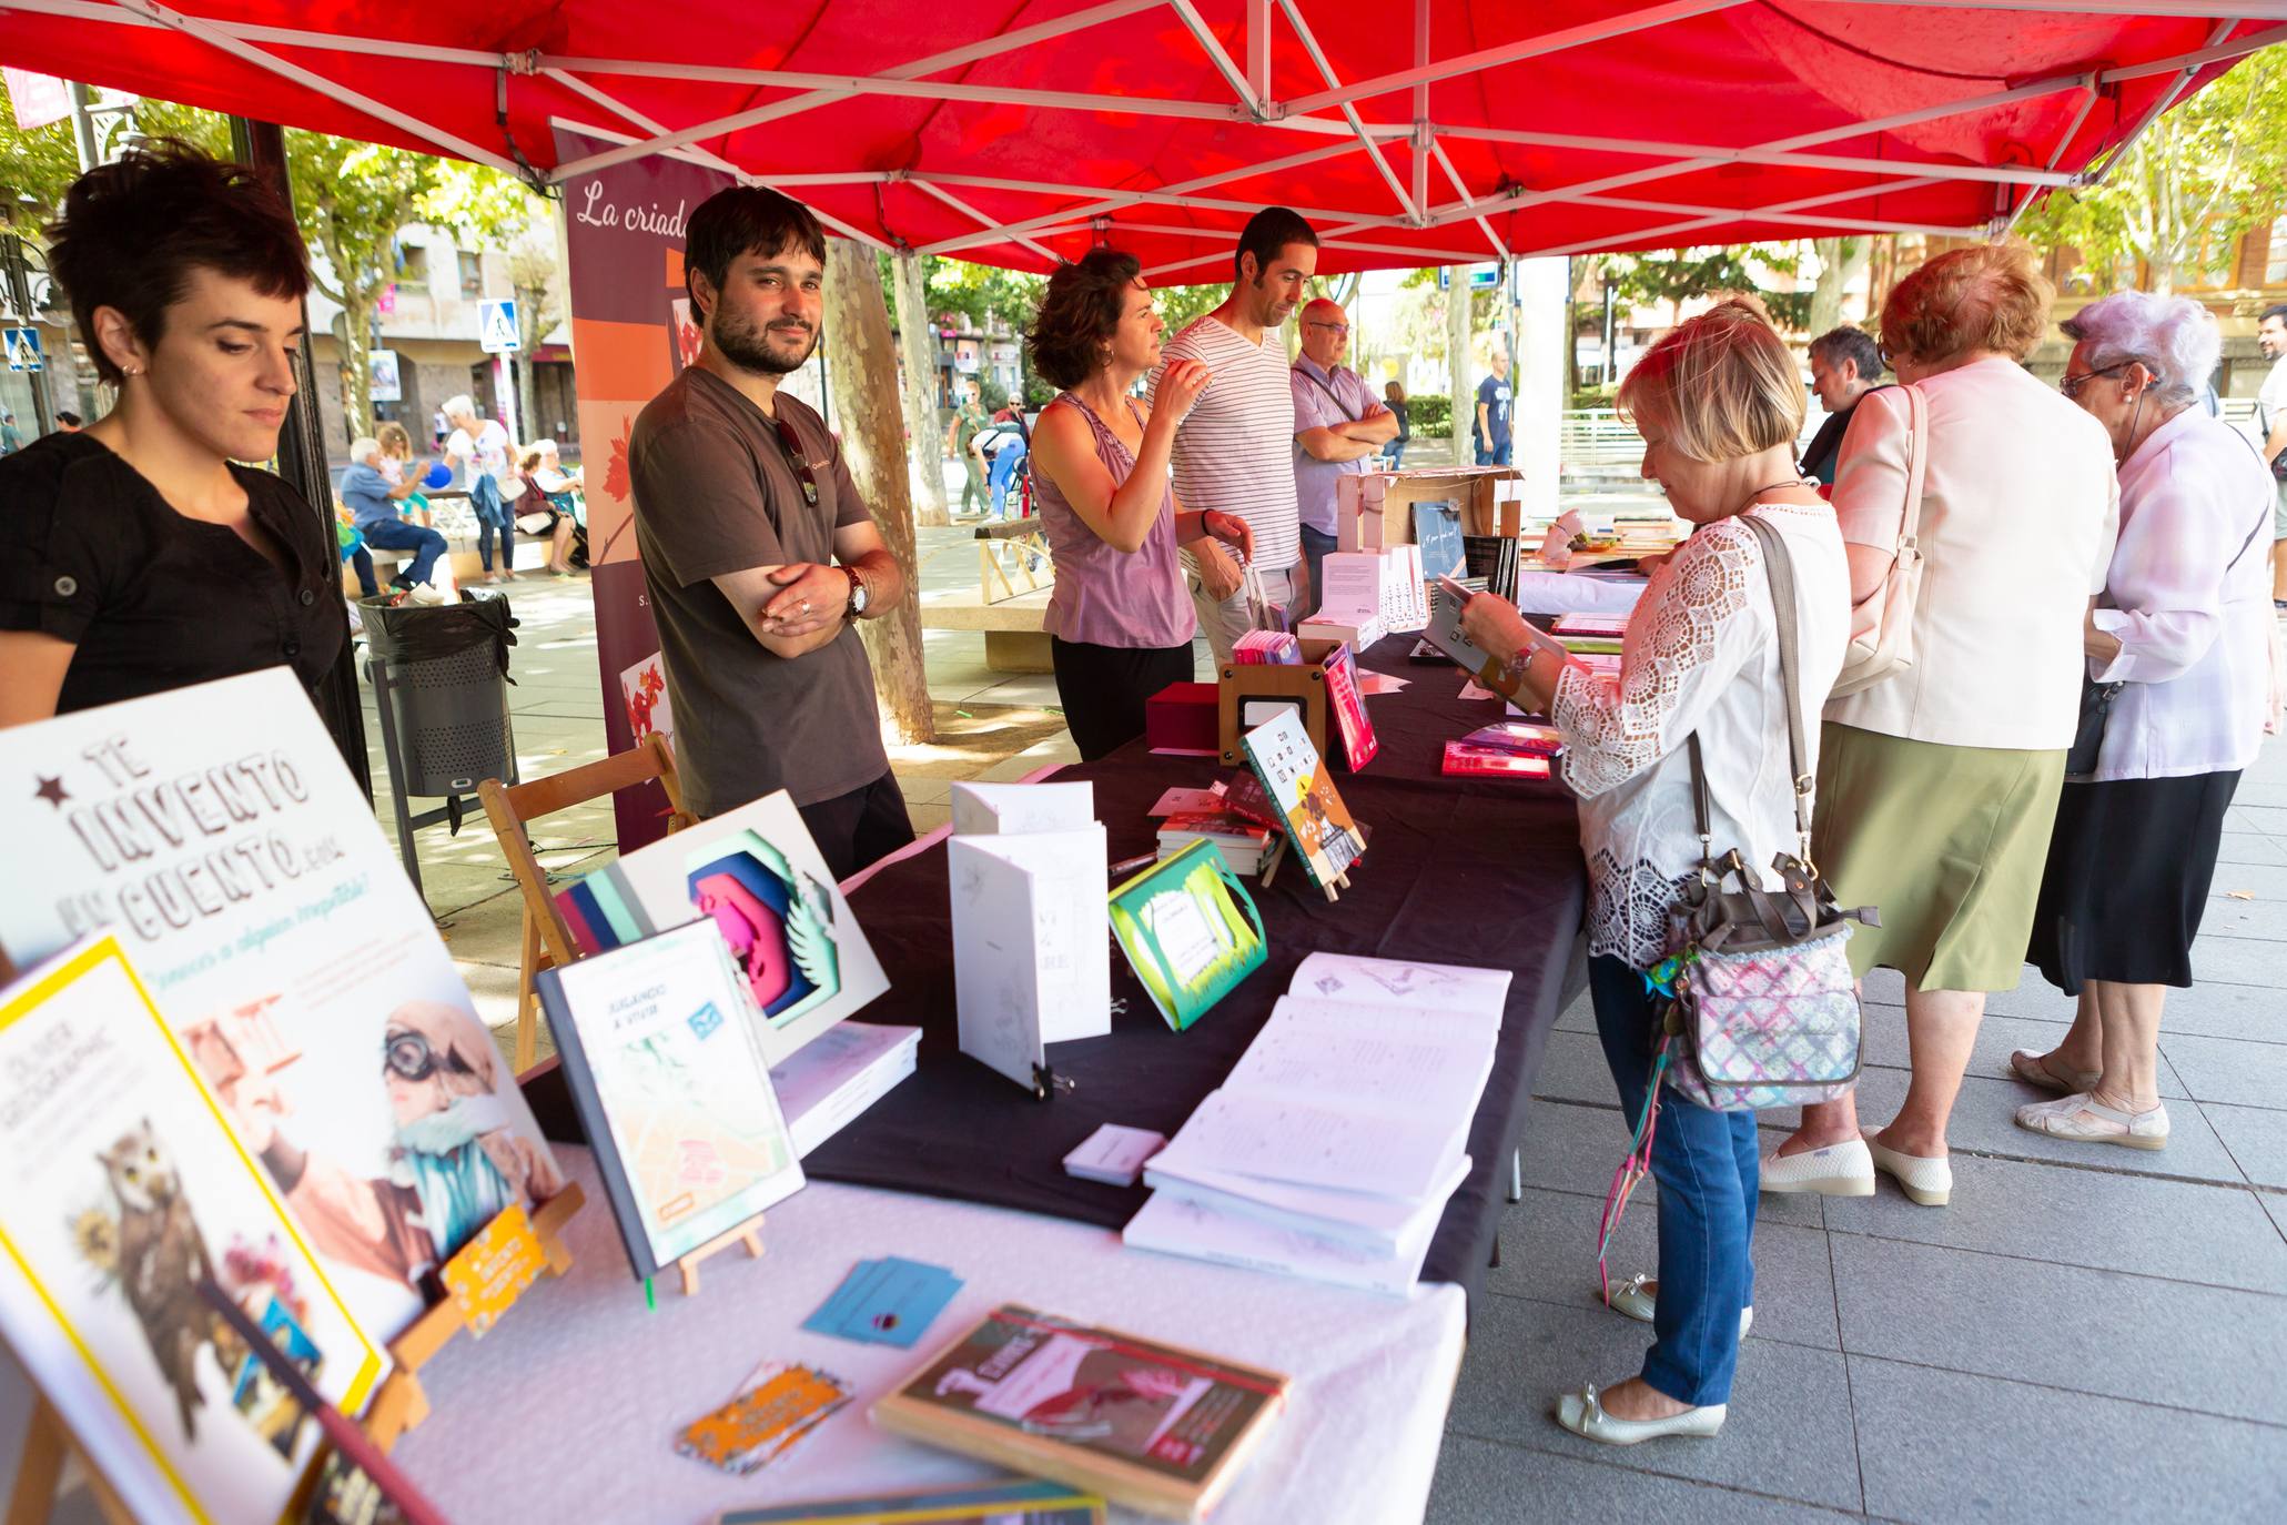
M 117 937 L 0 990 L 0 1331 L 135 1518 L 277 1520 L 316 1424 L 215 1283 L 354 1413 L 382 1376 Z

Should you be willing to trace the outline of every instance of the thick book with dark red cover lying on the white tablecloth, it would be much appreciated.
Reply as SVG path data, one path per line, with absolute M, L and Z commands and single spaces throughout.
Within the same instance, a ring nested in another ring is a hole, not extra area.
M 1240 1477 L 1288 1388 L 1278 1372 L 1004 1303 L 871 1415 L 890 1434 L 1196 1520 Z

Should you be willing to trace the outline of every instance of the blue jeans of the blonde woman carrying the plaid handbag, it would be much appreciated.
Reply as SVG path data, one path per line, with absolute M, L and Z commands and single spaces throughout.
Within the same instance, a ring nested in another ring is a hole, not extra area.
M 1651 995 L 1619 958 L 1587 963 L 1587 992 L 1633 1127 L 1651 1079 Z M 1651 1175 L 1660 1182 L 1660 1299 L 1644 1381 L 1679 1404 L 1727 1404 L 1738 1315 L 1754 1303 L 1754 1113 L 1708 1111 L 1663 1088 Z

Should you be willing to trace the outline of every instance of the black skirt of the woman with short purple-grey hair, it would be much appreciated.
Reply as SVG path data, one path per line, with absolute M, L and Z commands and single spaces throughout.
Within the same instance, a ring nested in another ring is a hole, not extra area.
M 2065 995 L 2093 979 L 2191 985 L 2239 773 L 2065 782 L 2026 963 Z

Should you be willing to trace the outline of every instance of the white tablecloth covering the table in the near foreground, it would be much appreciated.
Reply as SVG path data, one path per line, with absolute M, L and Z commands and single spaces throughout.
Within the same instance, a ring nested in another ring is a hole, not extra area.
M 572 1271 L 537 1283 L 492 1333 L 455 1342 L 421 1372 L 435 1415 L 396 1450 L 455 1523 L 700 1525 L 741 1504 L 995 1477 L 876 1431 L 864 1408 L 1004 1301 L 1294 1379 L 1288 1413 L 1217 1507 L 1217 1525 L 1393 1525 L 1418 1520 L 1429 1500 L 1461 1365 L 1459 1287 L 1365 1296 L 1141 1255 L 1100 1228 L 1029 1212 L 816 1182 L 768 1212 L 762 1260 L 709 1264 L 695 1299 L 661 1285 L 650 1310 L 592 1157 L 565 1145 L 558 1159 L 588 1191 L 567 1232 Z M 878 1255 L 929 1260 L 967 1285 L 913 1351 L 805 1333 L 800 1322 L 851 1267 Z M 677 1456 L 677 1431 L 764 1360 L 832 1372 L 855 1399 L 752 1477 Z

